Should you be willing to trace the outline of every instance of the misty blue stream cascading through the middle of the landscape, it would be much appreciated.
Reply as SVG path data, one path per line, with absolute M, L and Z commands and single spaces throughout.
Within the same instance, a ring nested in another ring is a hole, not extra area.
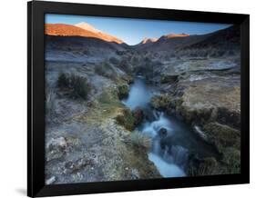
M 143 109 L 145 118 L 136 130 L 152 139 L 148 159 L 156 165 L 159 173 L 163 177 L 186 176 L 189 154 L 203 158 L 216 153 L 175 115 L 169 116 L 152 109 L 149 102 L 153 94 L 159 94 L 159 88 L 146 84 L 146 80 L 138 76 L 130 85 L 128 98 L 122 103 L 131 110 L 137 107 Z

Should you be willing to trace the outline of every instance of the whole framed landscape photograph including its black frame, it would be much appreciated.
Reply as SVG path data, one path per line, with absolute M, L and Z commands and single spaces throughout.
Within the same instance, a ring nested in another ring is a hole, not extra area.
M 28 196 L 249 183 L 249 15 L 27 11 Z

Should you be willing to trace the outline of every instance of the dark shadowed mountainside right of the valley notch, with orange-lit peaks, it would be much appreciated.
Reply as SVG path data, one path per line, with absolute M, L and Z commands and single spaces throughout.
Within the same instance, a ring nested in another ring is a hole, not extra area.
M 203 50 L 210 51 L 214 48 L 219 52 L 221 51 L 220 54 L 225 53 L 222 52 L 224 50 L 230 51 L 232 54 L 231 51 L 237 51 L 240 46 L 240 28 L 238 25 L 232 25 L 206 35 L 169 34 L 162 35 L 156 42 L 143 41 L 134 45 L 134 49 L 141 52 L 165 52 L 168 54 L 181 51 L 184 52 L 181 54 L 186 54 L 191 53 L 189 50 L 200 50 L 200 54 L 206 54 L 203 53 Z

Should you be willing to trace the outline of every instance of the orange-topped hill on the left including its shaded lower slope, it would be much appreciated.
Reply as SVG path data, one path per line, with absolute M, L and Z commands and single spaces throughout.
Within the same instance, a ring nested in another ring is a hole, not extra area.
M 46 60 L 98 62 L 127 50 L 128 45 L 93 26 L 46 24 Z M 53 53 L 54 52 L 54 53 Z

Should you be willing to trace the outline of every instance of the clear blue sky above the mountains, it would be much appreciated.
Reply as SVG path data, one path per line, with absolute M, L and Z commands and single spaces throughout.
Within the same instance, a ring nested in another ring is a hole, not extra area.
M 114 35 L 128 45 L 136 45 L 144 38 L 159 38 L 169 34 L 204 35 L 229 27 L 227 24 L 163 21 L 87 15 L 46 14 L 46 24 L 76 25 L 86 22 L 96 29 Z

